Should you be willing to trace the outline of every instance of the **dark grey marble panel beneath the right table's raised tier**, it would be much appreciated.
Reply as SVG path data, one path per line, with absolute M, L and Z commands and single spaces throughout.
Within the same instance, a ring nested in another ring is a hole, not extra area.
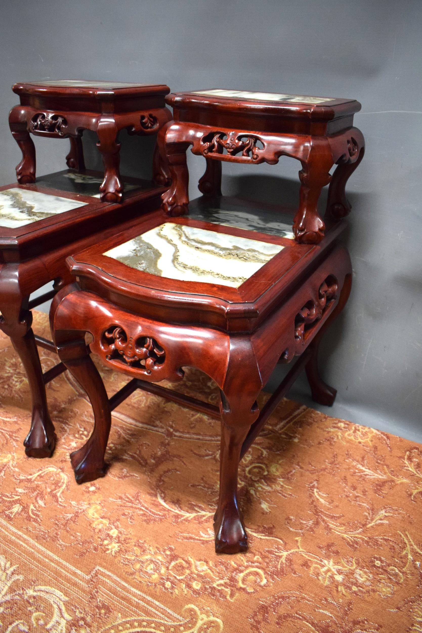
M 237 209 L 218 209 L 210 206 L 189 211 L 189 218 L 221 224 L 224 227 L 236 227 L 237 229 L 258 231 L 267 235 L 294 239 L 292 224 L 280 222 L 280 220 L 276 219 L 275 213 L 264 209 L 239 211 Z

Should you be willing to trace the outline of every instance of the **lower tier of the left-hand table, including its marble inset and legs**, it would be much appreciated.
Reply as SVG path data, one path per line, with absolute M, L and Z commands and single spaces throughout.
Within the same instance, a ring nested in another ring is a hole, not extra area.
M 62 363 L 42 373 L 37 344 L 56 351 L 53 342 L 34 335 L 32 308 L 51 299 L 72 277 L 65 260 L 116 232 L 116 225 L 139 222 L 158 206 L 164 187 L 125 179 L 121 204 L 99 199 L 100 172 L 65 170 L 38 179 L 37 184 L 0 187 L 0 329 L 22 360 L 32 395 L 32 423 L 25 452 L 51 456 L 56 442 L 45 384 L 65 371 Z M 30 294 L 54 280 L 54 289 L 37 299 Z

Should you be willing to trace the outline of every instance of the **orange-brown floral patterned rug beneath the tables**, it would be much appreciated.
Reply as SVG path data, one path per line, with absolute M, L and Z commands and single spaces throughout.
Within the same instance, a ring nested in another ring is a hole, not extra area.
M 27 458 L 27 380 L 0 345 L 2 632 L 422 631 L 422 446 L 284 400 L 240 467 L 249 551 L 217 556 L 218 423 L 135 392 L 108 474 L 77 486 L 84 392 L 67 372 L 48 385 L 58 446 Z M 101 372 L 109 394 L 127 382 Z M 177 389 L 217 400 L 193 370 Z

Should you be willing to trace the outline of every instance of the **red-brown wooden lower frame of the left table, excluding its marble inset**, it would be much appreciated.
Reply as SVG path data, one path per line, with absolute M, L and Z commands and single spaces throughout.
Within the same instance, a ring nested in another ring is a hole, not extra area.
M 77 144 L 75 144 L 77 156 Z M 78 164 L 83 161 L 83 154 Z M 97 172 L 91 173 L 98 177 Z M 130 179 L 129 179 L 130 180 Z M 135 180 L 132 179 L 132 182 Z M 25 439 L 25 453 L 32 457 L 49 457 L 54 451 L 56 434 L 47 408 L 45 384 L 65 370 L 57 365 L 42 373 L 37 343 L 53 349 L 53 343 L 34 335 L 31 309 L 51 299 L 55 292 L 73 279 L 65 263 L 73 251 L 87 248 L 101 239 L 116 233 L 116 224 L 122 220 L 128 227 L 139 222 L 143 213 L 159 204 L 163 187 L 142 183 L 130 191 L 120 204 L 102 203 L 90 196 L 71 194 L 61 189 L 48 189 L 40 185 L 5 185 L 0 191 L 18 187 L 80 199 L 85 206 L 44 220 L 29 223 L 18 229 L 0 225 L 0 329 L 7 334 L 20 356 L 32 396 L 32 422 Z M 1 218 L 0 218 L 1 222 Z M 54 281 L 55 290 L 42 298 L 29 301 L 32 292 Z

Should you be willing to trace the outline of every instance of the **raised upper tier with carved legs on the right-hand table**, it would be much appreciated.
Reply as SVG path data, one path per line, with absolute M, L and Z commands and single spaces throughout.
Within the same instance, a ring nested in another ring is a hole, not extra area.
M 172 180 L 164 196 L 170 215 L 187 213 L 185 153 L 190 146 L 206 158 L 199 189 L 209 196 L 221 195 L 222 162 L 274 165 L 280 156 L 299 160 L 301 190 L 293 229 L 302 244 L 323 238 L 318 199 L 325 185 L 330 183 L 326 216 L 338 219 L 351 210 L 345 184 L 364 154 L 363 135 L 353 127 L 358 101 L 209 89 L 170 94 L 166 102 L 173 106 L 174 122 L 163 127 L 158 140 Z

